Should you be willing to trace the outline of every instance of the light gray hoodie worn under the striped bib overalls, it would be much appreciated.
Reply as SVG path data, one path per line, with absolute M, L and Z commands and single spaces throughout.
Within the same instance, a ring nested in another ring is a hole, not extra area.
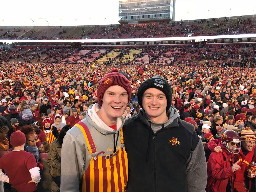
M 117 142 L 116 151 L 121 147 L 120 129 L 123 127 L 124 118 L 117 118 L 117 131 L 107 126 L 97 115 L 100 110 L 98 103 L 91 105 L 86 112 L 85 123 L 89 128 L 92 139 L 99 156 L 113 153 L 114 134 Z M 96 154 L 92 154 L 95 156 Z M 79 192 L 79 183 L 92 159 L 89 154 L 82 131 L 73 126 L 64 137 L 61 150 L 61 191 Z

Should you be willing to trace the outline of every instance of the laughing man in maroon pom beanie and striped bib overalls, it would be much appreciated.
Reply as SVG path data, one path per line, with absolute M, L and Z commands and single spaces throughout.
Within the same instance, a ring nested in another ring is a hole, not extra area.
M 123 111 L 131 98 L 125 74 L 102 78 L 98 103 L 70 129 L 61 150 L 61 191 L 125 191 L 127 154 L 123 148 Z

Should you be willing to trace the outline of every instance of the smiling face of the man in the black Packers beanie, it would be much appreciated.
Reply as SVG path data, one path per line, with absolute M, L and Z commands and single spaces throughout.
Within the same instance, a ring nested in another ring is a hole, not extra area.
M 142 107 L 147 117 L 155 123 L 165 122 L 167 99 L 164 92 L 156 88 L 147 89 L 142 97 Z

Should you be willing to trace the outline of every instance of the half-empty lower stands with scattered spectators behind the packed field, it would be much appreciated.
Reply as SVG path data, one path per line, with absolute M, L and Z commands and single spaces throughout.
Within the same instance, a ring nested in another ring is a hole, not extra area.
M 52 63 L 55 65 L 74 64 L 98 64 L 98 60 L 108 55 L 113 47 L 91 47 L 83 53 L 83 48 L 71 47 L 31 47 L 26 48 L 0 48 L 0 61 L 23 63 Z M 140 49 L 134 59 L 127 56 L 131 49 Z M 100 52 L 99 54 L 97 54 Z M 254 67 L 256 60 L 256 47 L 246 45 L 221 45 L 217 47 L 209 45 L 190 46 L 155 46 L 155 47 L 126 47 L 115 49 L 118 53 L 115 57 L 108 57 L 103 61 L 106 65 L 146 65 L 160 63 L 162 65 L 187 66 L 222 66 L 222 67 Z M 148 59 L 143 59 L 147 57 Z M 100 63 L 101 64 L 101 63 Z

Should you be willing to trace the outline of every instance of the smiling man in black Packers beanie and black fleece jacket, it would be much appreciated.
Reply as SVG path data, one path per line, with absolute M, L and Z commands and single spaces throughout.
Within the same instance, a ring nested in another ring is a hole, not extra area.
M 160 76 L 138 89 L 141 106 L 124 125 L 127 191 L 204 192 L 207 182 L 202 141 L 194 126 L 171 107 L 172 92 Z

